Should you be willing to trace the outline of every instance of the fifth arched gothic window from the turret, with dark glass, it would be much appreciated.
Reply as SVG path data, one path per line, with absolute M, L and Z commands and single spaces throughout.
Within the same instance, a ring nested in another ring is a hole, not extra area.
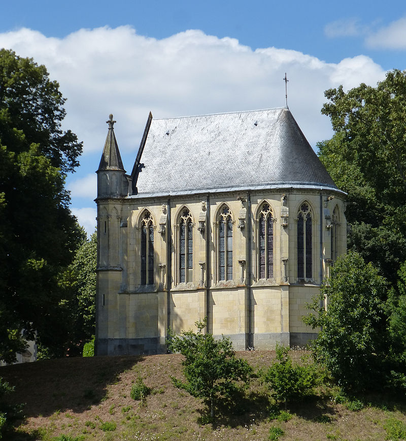
M 312 211 L 304 202 L 297 215 L 297 278 L 312 278 L 312 251 Z

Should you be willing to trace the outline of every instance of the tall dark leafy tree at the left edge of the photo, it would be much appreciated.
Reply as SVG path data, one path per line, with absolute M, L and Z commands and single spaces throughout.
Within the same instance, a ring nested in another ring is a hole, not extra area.
M 38 332 L 61 355 L 58 279 L 83 236 L 69 209 L 65 173 L 82 144 L 61 129 L 65 99 L 44 66 L 0 50 L 0 359 L 12 361 Z

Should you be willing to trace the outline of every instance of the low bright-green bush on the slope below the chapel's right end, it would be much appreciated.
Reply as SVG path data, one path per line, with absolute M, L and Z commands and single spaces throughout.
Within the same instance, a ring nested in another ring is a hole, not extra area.
M 302 365 L 294 365 L 289 348 L 276 345 L 276 361 L 264 374 L 264 381 L 272 390 L 272 396 L 285 404 L 292 399 L 302 398 L 314 391 L 317 384 L 317 369 L 308 359 Z

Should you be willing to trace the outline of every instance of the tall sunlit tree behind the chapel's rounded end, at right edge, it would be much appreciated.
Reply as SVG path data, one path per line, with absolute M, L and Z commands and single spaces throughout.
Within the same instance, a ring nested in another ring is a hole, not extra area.
M 406 71 L 325 96 L 335 134 L 318 144 L 319 157 L 348 193 L 349 247 L 395 283 L 406 260 Z

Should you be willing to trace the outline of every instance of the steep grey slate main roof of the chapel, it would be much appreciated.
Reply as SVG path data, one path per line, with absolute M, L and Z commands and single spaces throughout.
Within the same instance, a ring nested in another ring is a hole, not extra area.
M 290 186 L 338 190 L 287 108 L 171 119 L 150 114 L 131 176 L 139 197 Z

